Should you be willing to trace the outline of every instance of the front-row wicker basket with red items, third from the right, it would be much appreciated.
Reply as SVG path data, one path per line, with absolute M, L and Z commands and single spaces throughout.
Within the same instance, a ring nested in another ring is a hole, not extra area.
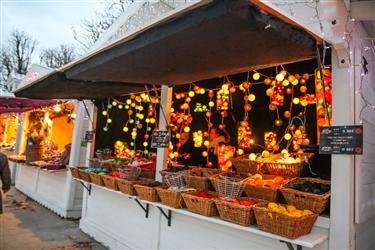
M 208 217 L 218 215 L 215 201 L 213 199 L 198 197 L 190 193 L 183 193 L 182 198 L 190 212 Z

